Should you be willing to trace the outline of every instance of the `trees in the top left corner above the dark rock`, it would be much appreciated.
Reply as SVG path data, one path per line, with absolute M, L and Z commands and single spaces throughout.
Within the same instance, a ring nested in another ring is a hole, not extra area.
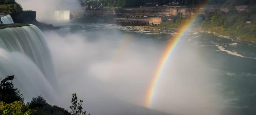
M 18 14 L 22 11 L 22 7 L 15 0 L 0 0 L 0 14 Z

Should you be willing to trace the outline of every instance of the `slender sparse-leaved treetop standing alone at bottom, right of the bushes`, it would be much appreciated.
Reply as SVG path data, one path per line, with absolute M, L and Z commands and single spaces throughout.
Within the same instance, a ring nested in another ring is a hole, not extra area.
M 78 102 L 78 99 L 76 97 L 76 93 L 72 94 L 72 106 L 70 106 L 71 109 L 71 115 L 87 115 L 86 112 L 83 112 L 82 108 L 82 100 Z M 90 115 L 90 113 L 88 114 Z

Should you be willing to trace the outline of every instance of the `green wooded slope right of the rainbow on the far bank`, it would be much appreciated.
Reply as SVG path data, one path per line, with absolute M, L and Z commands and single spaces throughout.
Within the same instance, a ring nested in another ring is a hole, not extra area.
M 200 15 L 195 24 L 207 31 L 256 42 L 256 9 L 249 13 L 230 10 L 227 13 Z

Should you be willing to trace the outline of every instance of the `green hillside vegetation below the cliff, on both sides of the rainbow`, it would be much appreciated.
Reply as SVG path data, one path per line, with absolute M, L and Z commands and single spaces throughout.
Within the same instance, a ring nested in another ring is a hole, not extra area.
M 225 12 L 199 14 L 197 17 L 169 17 L 171 20 L 154 27 L 180 28 L 189 20 L 195 18 L 192 27 L 201 28 L 202 31 L 236 37 L 241 41 L 256 42 L 256 9 L 251 12 L 238 12 L 230 10 Z

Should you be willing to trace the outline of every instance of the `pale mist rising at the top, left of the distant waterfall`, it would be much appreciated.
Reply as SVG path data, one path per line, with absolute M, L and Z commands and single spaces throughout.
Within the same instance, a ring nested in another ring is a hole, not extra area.
M 36 11 L 36 19 L 44 23 L 54 22 L 55 10 L 80 11 L 79 2 L 74 0 L 16 0 L 23 10 Z

